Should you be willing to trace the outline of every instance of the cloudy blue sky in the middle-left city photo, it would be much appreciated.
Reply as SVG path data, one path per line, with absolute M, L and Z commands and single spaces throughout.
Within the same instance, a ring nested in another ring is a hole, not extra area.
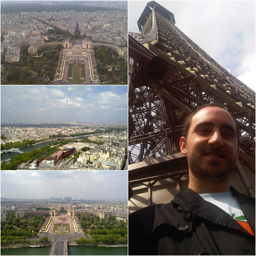
M 1 123 L 127 122 L 127 85 L 2 85 Z

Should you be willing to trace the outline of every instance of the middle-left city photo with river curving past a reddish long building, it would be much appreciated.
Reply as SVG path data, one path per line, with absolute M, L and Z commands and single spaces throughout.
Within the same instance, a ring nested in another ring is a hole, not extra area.
M 127 86 L 1 86 L 1 170 L 127 170 Z

